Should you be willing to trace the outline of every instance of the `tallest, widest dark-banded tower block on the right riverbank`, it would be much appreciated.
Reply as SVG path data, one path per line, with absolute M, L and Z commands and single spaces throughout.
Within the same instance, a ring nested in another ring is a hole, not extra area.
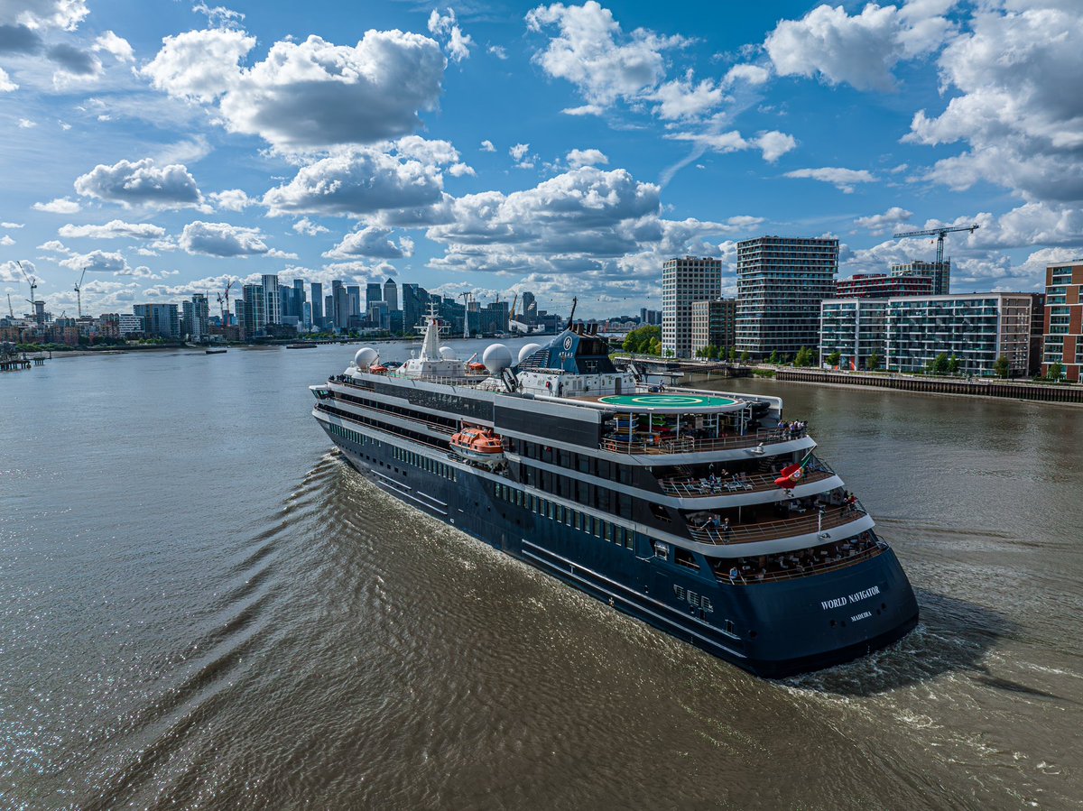
M 738 350 L 762 358 L 818 346 L 820 302 L 834 298 L 837 272 L 836 238 L 738 243 Z

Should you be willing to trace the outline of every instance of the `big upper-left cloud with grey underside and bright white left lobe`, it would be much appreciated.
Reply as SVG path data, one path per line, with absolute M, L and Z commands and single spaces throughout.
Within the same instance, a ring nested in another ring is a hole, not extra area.
M 275 42 L 250 68 L 256 38 L 235 29 L 162 40 L 143 73 L 170 95 L 217 103 L 225 128 L 280 149 L 365 144 L 420 126 L 442 91 L 446 60 L 418 34 L 369 30 L 354 47 L 310 36 Z

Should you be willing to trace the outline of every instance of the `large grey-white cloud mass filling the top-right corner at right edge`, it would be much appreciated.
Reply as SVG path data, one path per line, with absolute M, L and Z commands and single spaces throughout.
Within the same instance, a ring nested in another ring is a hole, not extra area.
M 1049 3 L 976 14 L 939 58 L 952 99 L 940 115 L 919 110 L 904 141 L 963 143 L 926 176 L 954 189 L 979 181 L 1028 199 L 1083 200 L 1083 16 Z M 1028 8 L 1031 6 L 1031 8 Z M 1041 8 L 1045 6 L 1045 8 Z

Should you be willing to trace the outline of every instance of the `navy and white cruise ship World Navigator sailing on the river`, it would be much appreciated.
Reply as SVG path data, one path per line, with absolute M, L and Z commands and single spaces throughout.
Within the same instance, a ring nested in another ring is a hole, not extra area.
M 917 624 L 872 516 L 779 397 L 650 385 L 571 324 L 512 357 L 358 350 L 311 387 L 342 456 L 404 502 L 767 678 Z

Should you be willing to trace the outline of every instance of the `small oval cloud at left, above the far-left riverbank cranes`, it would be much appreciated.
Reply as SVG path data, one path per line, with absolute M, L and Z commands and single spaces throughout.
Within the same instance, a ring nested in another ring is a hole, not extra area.
M 181 208 L 201 202 L 195 178 L 183 163 L 158 167 L 151 158 L 113 166 L 99 163 L 75 181 L 75 191 L 84 197 L 118 202 L 126 208 L 154 206 Z

